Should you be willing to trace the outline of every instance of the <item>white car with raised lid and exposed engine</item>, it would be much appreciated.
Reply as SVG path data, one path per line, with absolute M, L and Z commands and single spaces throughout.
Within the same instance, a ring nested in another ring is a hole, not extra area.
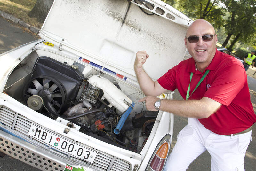
M 160 0 L 55 0 L 42 39 L 0 55 L 0 152 L 41 170 L 161 171 L 173 114 L 138 102 L 133 63 L 146 50 L 162 76 L 191 23 Z

